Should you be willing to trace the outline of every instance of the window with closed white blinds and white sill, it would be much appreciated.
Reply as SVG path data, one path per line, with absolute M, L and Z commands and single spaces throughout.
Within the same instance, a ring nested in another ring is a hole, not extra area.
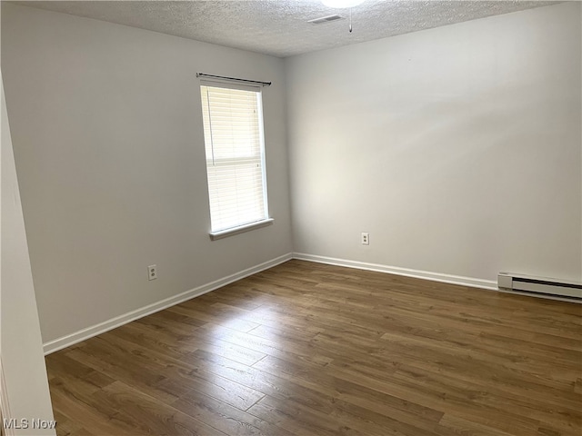
M 272 222 L 266 202 L 261 89 L 202 82 L 211 237 Z

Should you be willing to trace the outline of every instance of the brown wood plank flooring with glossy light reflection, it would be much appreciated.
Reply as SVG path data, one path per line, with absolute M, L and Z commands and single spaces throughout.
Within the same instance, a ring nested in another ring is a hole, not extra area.
M 582 434 L 582 306 L 290 261 L 46 358 L 65 435 Z

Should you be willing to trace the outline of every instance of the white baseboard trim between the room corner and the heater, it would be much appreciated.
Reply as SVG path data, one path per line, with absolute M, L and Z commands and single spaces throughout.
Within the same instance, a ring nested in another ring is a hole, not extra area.
M 346 259 L 337 259 L 335 257 L 317 256 L 315 254 L 306 253 L 293 253 L 293 258 L 298 259 L 300 261 L 326 263 L 328 265 L 345 266 L 347 268 L 356 268 L 358 270 L 386 272 L 389 274 L 414 277 L 416 279 L 432 280 L 434 282 L 443 282 L 450 284 L 460 284 L 462 286 L 469 286 L 472 288 L 487 289 L 489 291 L 498 291 L 497 282 L 495 281 L 475 279 L 472 277 L 463 277 L 460 275 L 443 274 L 441 272 L 412 270 L 409 268 L 400 268 L 397 266 L 388 266 L 379 263 L 348 261 Z

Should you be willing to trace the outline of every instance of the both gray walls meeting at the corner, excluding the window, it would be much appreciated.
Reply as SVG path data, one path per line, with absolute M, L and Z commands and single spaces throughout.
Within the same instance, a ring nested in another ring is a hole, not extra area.
M 286 61 L 2 12 L 44 342 L 292 251 L 483 280 L 582 275 L 577 3 Z M 274 225 L 209 240 L 196 72 L 273 81 Z

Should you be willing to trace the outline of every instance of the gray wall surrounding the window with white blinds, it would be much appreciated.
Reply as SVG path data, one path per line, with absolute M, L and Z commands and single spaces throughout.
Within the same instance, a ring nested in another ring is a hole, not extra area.
M 44 342 L 292 251 L 284 63 L 2 5 L 2 64 Z M 220 241 L 196 72 L 263 93 L 275 223 Z M 147 265 L 159 278 L 147 281 Z

